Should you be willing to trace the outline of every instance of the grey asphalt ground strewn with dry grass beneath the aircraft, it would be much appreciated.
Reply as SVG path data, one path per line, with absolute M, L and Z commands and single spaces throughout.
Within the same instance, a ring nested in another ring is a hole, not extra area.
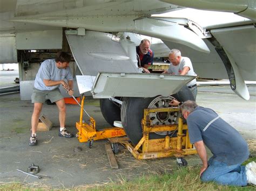
M 15 72 L 5 72 L 15 77 Z M 12 81 L 3 81 L 2 85 Z M 13 79 L 14 80 L 14 79 Z M 1 85 L 1 84 L 0 84 Z M 199 87 L 197 102 L 203 107 L 217 111 L 228 123 L 234 126 L 250 143 L 250 149 L 256 153 L 256 87 L 248 87 L 251 98 L 242 100 L 235 95 L 229 86 Z M 79 143 L 77 138 L 58 137 L 59 122 L 56 105 L 44 104 L 42 114 L 53 123 L 50 131 L 38 131 L 38 145 L 28 145 L 33 104 L 21 101 L 19 94 L 0 96 L 0 182 L 24 182 L 31 186 L 48 186 L 53 188 L 72 188 L 87 184 L 101 184 L 123 179 L 136 179 L 141 175 L 172 173 L 178 168 L 176 158 L 136 160 L 129 151 L 119 146 L 116 155 L 119 168 L 111 169 L 107 159 L 105 144 L 107 140 L 98 140 L 92 148 L 86 143 Z M 99 101 L 86 97 L 85 110 L 96 119 L 97 129 L 109 127 L 103 118 Z M 75 123 L 79 121 L 78 105 L 67 105 L 66 128 L 77 133 Z M 235 141 L 235 140 L 234 140 Z M 252 143 L 252 144 L 251 144 Z M 79 146 L 82 151 L 75 152 Z M 210 157 L 210 153 L 208 153 Z M 198 155 L 189 155 L 185 159 L 188 165 L 198 165 Z M 34 163 L 39 165 L 42 179 L 18 172 L 26 171 Z

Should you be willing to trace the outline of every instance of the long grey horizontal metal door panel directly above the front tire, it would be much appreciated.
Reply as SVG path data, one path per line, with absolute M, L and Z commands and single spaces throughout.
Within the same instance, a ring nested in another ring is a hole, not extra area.
M 195 76 L 143 73 L 99 73 L 92 87 L 93 98 L 154 97 L 172 95 Z

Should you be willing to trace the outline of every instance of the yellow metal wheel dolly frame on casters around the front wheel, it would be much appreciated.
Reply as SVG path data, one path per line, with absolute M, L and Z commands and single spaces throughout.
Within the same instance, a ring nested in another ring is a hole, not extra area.
M 186 166 L 187 162 L 184 155 L 195 154 L 197 151 L 193 148 L 188 137 L 187 125 L 183 124 L 183 118 L 179 116 L 178 124 L 173 125 L 151 125 L 150 113 L 154 112 L 179 112 L 179 108 L 157 108 L 144 109 L 144 118 L 142 119 L 143 137 L 136 146 L 133 146 L 126 137 L 109 139 L 112 148 L 113 144 L 120 143 L 124 145 L 136 159 L 153 159 L 163 157 L 177 157 L 179 166 Z M 167 131 L 177 132 L 177 137 L 170 137 L 169 133 L 165 138 L 149 139 L 149 133 Z M 113 150 L 115 151 L 115 150 Z M 117 150 L 118 151 L 118 150 Z

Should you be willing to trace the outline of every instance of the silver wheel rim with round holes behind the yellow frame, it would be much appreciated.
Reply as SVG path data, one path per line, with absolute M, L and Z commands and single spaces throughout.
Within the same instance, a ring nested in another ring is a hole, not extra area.
M 170 108 L 169 103 L 174 99 L 172 96 L 159 96 L 149 104 L 148 108 Z M 170 125 L 177 122 L 178 112 L 154 112 L 150 114 L 152 125 Z M 155 132 L 158 135 L 166 135 L 167 131 Z M 169 131 L 169 134 L 172 132 Z

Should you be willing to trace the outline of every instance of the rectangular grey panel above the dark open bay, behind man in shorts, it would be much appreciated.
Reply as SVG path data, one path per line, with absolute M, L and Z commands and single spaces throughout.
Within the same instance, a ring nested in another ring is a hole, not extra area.
M 17 49 L 62 49 L 62 30 L 16 34 Z

